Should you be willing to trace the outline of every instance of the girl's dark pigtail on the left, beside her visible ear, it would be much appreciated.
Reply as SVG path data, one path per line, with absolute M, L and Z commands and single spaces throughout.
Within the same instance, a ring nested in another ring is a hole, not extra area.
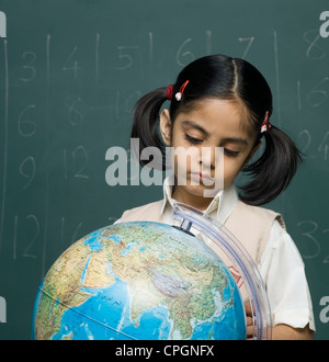
M 167 88 L 158 88 L 141 97 L 135 106 L 132 138 L 139 138 L 139 155 L 146 147 L 157 147 L 162 152 L 162 169 L 166 167 L 164 145 L 158 129 L 159 112 L 167 100 Z M 137 155 L 136 155 L 137 156 Z M 147 165 L 148 160 L 141 160 Z

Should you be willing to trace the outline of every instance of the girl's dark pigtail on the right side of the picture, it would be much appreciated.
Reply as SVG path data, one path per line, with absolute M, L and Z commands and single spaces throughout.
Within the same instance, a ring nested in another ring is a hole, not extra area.
M 264 134 L 262 156 L 243 168 L 252 181 L 241 186 L 241 201 L 249 205 L 263 205 L 273 201 L 292 181 L 302 156 L 294 142 L 275 126 Z

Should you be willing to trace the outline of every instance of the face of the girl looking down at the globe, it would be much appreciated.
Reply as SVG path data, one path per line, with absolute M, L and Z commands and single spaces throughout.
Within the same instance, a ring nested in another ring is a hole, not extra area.
M 178 156 L 180 152 L 174 152 L 178 182 L 172 196 L 175 200 L 200 210 L 206 208 L 213 199 L 205 196 L 206 191 L 220 184 L 217 180 L 209 185 L 209 180 L 218 178 L 216 167 L 218 170 L 223 161 L 224 174 L 220 177 L 224 188 L 235 180 L 261 145 L 254 147 L 256 137 L 242 126 L 242 105 L 237 102 L 208 99 L 197 102 L 192 111 L 179 113 L 171 129 L 169 111 L 161 113 L 160 131 L 167 146 L 190 155 L 183 159 Z M 220 154 L 223 157 L 218 157 Z M 185 180 L 180 180 L 181 176 Z

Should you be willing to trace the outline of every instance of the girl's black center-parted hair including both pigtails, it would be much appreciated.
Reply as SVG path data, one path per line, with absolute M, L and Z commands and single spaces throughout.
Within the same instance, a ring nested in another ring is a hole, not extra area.
M 259 159 L 242 169 L 251 176 L 251 181 L 240 188 L 243 191 L 240 199 L 249 205 L 262 205 L 274 200 L 290 184 L 300 161 L 300 154 L 293 140 L 277 127 L 272 126 L 264 134 L 260 132 L 266 112 L 269 117 L 272 114 L 272 93 L 264 77 L 243 59 L 212 55 L 196 59 L 182 69 L 173 84 L 173 94 L 180 91 L 186 80 L 189 84 L 182 100 L 177 101 L 173 97 L 170 102 L 172 124 L 179 112 L 192 110 L 194 102 L 203 99 L 232 100 L 242 104 L 247 111 L 243 112 L 246 125 L 256 137 L 254 146 L 264 135 L 265 147 Z M 164 144 L 158 121 L 166 100 L 167 87 L 140 98 L 132 129 L 132 138 L 139 138 L 140 152 L 150 146 L 161 149 L 163 169 Z

